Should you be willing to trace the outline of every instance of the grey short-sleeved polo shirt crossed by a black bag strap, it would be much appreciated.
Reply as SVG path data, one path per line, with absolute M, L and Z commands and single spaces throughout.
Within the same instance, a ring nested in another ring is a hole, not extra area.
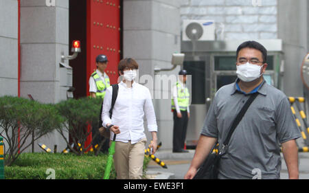
M 236 82 L 217 91 L 201 131 L 216 137 L 219 144 L 250 97 L 238 91 Z M 257 171 L 262 179 L 279 179 L 280 144 L 301 137 L 286 95 L 264 80 L 258 93 L 231 135 L 227 153 L 220 160 L 219 179 L 252 179 Z

